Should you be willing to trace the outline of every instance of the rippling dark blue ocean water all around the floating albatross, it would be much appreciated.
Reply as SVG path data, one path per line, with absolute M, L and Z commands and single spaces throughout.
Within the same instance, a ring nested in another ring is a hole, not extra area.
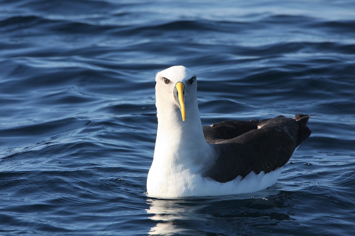
M 0 0 L 0 235 L 354 235 L 355 2 Z M 146 195 L 154 77 L 203 125 L 312 116 L 269 189 Z

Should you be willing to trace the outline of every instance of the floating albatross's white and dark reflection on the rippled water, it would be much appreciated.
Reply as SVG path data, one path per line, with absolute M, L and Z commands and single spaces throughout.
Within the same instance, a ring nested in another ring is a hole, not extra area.
M 290 217 L 288 192 L 267 189 L 222 197 L 148 198 L 149 235 L 223 235 L 250 232 L 250 226 L 277 225 Z M 284 208 L 284 210 L 282 210 Z

